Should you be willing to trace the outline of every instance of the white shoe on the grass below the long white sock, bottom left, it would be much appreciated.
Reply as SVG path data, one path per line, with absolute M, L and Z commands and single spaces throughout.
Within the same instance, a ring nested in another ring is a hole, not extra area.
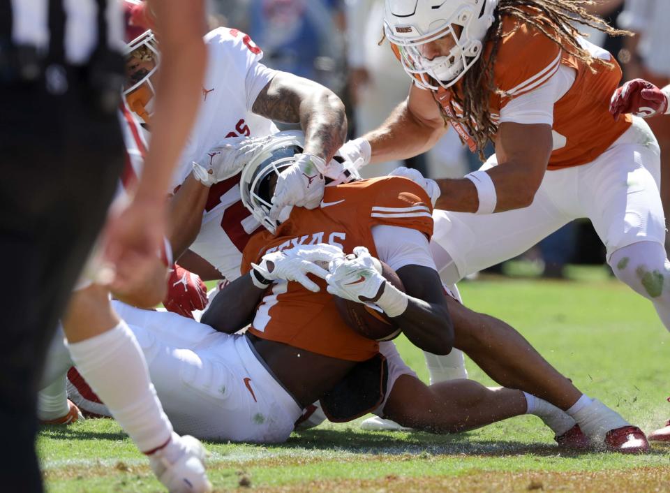
M 149 455 L 151 469 L 170 493 L 209 493 L 202 443 L 190 435 L 172 433 L 168 445 Z

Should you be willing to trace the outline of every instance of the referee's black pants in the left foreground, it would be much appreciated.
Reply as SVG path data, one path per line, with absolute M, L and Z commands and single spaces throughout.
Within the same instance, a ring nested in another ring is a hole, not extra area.
M 45 352 L 124 164 L 115 112 L 76 78 L 0 83 L 0 490 L 41 492 Z M 56 84 L 54 86 L 54 83 Z

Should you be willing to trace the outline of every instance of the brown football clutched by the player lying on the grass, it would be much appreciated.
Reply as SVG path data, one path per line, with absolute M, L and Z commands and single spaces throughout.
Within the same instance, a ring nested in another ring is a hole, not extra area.
M 403 293 L 405 292 L 403 281 L 400 280 L 396 271 L 383 262 L 382 276 Z M 366 304 L 345 300 L 338 296 L 334 296 L 334 299 L 342 320 L 363 337 L 375 341 L 390 341 L 399 336 L 401 329 L 383 312 L 376 311 Z

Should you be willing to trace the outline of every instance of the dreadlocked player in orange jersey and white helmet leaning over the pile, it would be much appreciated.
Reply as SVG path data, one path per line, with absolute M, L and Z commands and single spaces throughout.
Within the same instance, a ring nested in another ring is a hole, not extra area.
M 341 153 L 406 159 L 449 124 L 480 156 L 494 142 L 481 169 L 438 180 L 431 251 L 442 279 L 455 283 L 588 217 L 616 277 L 670 328 L 660 149 L 642 119 L 609 115 L 620 68 L 573 22 L 624 33 L 588 14 L 588 3 L 387 0 L 385 35 L 412 80 L 409 96 Z M 292 176 L 280 179 L 276 210 L 301 196 Z

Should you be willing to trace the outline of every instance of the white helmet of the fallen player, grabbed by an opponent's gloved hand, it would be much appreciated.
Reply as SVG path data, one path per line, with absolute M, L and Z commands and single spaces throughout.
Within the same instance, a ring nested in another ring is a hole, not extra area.
M 290 167 L 295 154 L 301 154 L 305 145 L 305 134 L 300 130 L 289 130 L 276 133 L 263 146 L 251 161 L 244 165 L 239 180 L 239 193 L 244 206 L 271 233 L 275 233 L 277 223 L 288 218 L 290 207 L 286 207 L 279 216 L 279 221 L 270 219 L 272 195 L 277 177 Z M 334 156 L 328 164 L 326 172 L 327 185 L 354 182 L 361 179 L 358 170 L 342 156 Z

